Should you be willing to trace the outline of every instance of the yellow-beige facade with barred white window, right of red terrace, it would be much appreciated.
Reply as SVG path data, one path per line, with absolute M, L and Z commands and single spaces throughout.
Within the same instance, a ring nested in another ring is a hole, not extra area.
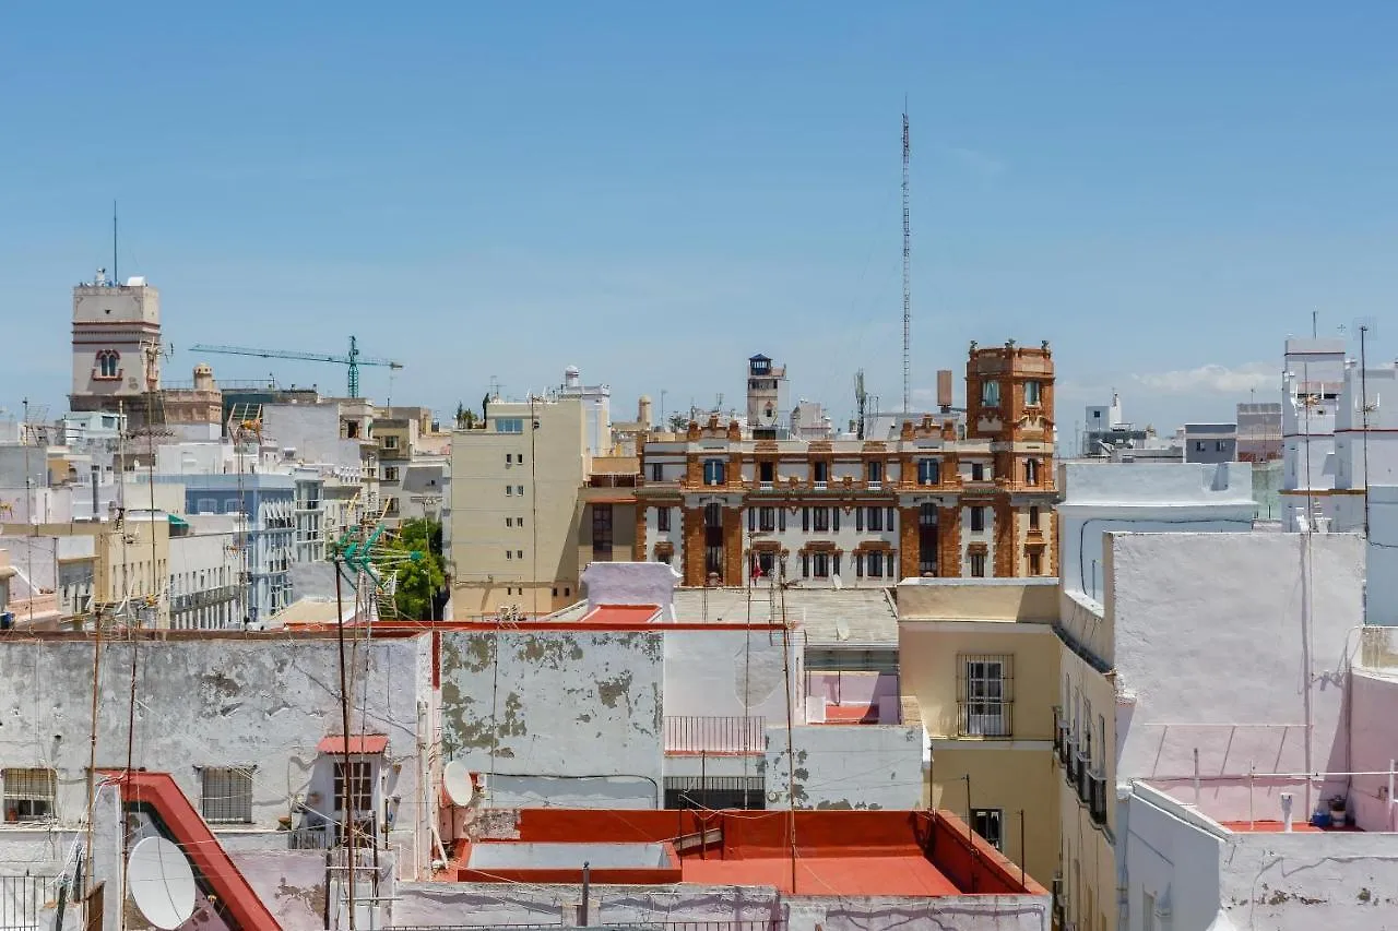
M 966 821 L 1044 885 L 1058 872 L 1057 579 L 905 579 L 902 692 L 931 742 L 934 808 Z

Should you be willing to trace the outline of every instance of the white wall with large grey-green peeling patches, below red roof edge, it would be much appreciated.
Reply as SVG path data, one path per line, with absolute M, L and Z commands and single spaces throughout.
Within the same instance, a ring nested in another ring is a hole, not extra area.
M 534 784 L 540 777 L 568 777 L 570 804 L 658 807 L 661 639 L 587 629 L 443 632 L 445 755 L 495 773 L 496 805 L 528 804 L 547 790 Z M 526 780 L 514 784 L 523 797 L 506 798 L 512 783 L 502 776 Z

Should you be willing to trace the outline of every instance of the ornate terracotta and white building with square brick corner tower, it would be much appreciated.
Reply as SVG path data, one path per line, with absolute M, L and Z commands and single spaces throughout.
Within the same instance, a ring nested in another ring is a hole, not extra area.
M 909 418 L 896 436 L 691 422 L 640 449 L 635 558 L 670 562 L 686 586 L 1053 575 L 1053 384 L 1047 342 L 972 344 L 965 411 Z

